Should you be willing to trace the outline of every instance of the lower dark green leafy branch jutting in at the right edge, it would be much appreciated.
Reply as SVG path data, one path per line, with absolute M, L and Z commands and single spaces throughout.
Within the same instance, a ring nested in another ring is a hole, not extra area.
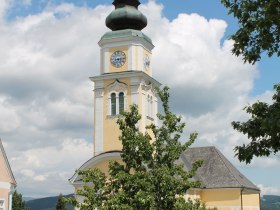
M 274 85 L 274 89 L 271 105 L 258 101 L 244 108 L 251 115 L 247 122 L 232 122 L 234 129 L 251 140 L 247 145 L 235 147 L 240 161 L 250 163 L 254 156 L 269 156 L 280 150 L 280 84 Z

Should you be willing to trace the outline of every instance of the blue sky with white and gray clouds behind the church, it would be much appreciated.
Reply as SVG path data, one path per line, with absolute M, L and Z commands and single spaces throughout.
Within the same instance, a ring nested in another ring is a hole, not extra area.
M 239 163 L 233 148 L 248 140 L 230 126 L 246 120 L 248 103 L 270 101 L 279 59 L 252 66 L 232 56 L 237 22 L 219 0 L 142 2 L 153 75 L 170 86 L 186 133 L 219 148 L 263 194 L 280 195 L 279 155 Z M 93 154 L 88 78 L 99 74 L 97 42 L 112 10 L 109 0 L 0 0 L 0 138 L 24 196 L 71 193 L 68 179 Z

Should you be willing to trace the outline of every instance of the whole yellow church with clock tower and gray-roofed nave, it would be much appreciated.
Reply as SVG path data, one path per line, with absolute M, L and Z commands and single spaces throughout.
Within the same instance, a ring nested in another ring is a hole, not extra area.
M 94 83 L 94 148 L 93 157 L 79 170 L 98 168 L 108 174 L 111 160 L 121 162 L 121 134 L 116 123 L 123 111 L 137 104 L 142 116 L 141 132 L 146 126 L 157 125 L 157 95 L 161 84 L 152 76 L 152 40 L 141 30 L 147 18 L 138 10 L 138 0 L 114 0 L 115 10 L 106 18 L 111 31 L 100 41 L 100 75 L 91 77 Z M 200 199 L 209 208 L 219 210 L 259 210 L 260 190 L 242 175 L 215 147 L 189 148 L 178 162 L 190 170 L 194 160 L 204 164 L 194 179 L 200 188 L 189 189 L 185 198 Z M 77 173 L 70 179 L 75 190 L 83 183 Z

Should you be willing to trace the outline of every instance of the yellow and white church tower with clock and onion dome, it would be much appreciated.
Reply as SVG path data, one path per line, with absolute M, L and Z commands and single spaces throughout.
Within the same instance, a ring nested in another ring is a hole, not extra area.
M 106 18 L 112 31 L 99 41 L 100 75 L 94 82 L 94 156 L 121 150 L 116 123 L 123 111 L 137 104 L 142 119 L 140 131 L 156 124 L 157 98 L 152 78 L 151 55 L 154 45 L 141 30 L 147 18 L 138 10 L 138 0 L 114 0 L 115 10 Z

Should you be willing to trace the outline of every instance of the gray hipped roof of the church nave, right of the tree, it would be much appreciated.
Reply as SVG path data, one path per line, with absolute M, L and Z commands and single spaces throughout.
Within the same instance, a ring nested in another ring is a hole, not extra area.
M 184 167 L 189 170 L 198 159 L 204 160 L 204 163 L 194 179 L 201 181 L 201 188 L 244 188 L 259 191 L 216 147 L 189 148 L 182 153 L 179 162 L 183 162 Z

